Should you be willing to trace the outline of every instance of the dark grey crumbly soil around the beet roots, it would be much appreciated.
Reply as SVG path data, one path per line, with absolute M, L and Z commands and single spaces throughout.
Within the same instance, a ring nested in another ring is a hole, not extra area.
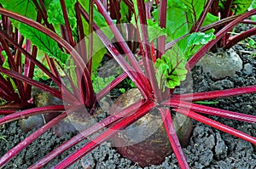
M 236 30 L 239 29 L 241 28 L 238 27 Z M 228 76 L 222 80 L 213 81 L 211 76 L 202 72 L 200 66 L 195 66 L 192 75 L 194 84 L 193 89 L 195 92 L 256 85 L 256 58 L 252 58 L 250 54 L 245 52 L 247 51 L 247 47 L 244 45 L 236 45 L 233 49 L 240 55 L 243 61 L 243 69 L 240 72 L 236 72 L 236 75 L 234 76 Z M 218 101 L 218 104 L 211 104 L 212 107 L 256 115 L 256 94 L 245 94 L 226 99 L 217 99 L 215 101 Z M 214 116 L 211 116 L 211 118 L 256 137 L 256 124 L 232 121 Z M 184 155 L 186 156 L 190 168 L 255 168 L 256 150 L 253 149 L 252 144 L 249 144 L 240 138 L 233 137 L 225 132 L 220 132 L 217 129 L 203 125 L 200 122 L 193 121 L 193 123 L 195 128 L 193 135 L 189 140 L 189 146 L 183 148 Z M 3 125 L 0 129 L 0 135 L 8 140 L 8 142 L 5 142 L 3 139 L 0 139 L 0 156 L 4 155 L 9 149 L 20 143 L 21 140 L 32 133 L 22 132 L 20 130 L 20 123 L 17 121 Z M 53 132 L 45 132 L 44 135 L 28 146 L 28 148 L 23 149 L 14 160 L 9 161 L 9 164 L 3 168 L 27 168 L 44 155 L 48 154 L 50 150 L 55 149 L 55 147 L 71 137 L 73 137 L 73 133 L 65 133 L 58 138 Z M 55 165 L 85 142 L 86 140 L 74 148 L 68 149 L 44 168 L 49 168 L 50 166 Z M 112 147 L 112 144 L 107 142 L 100 145 L 97 149 L 76 162 L 73 166 L 70 166 L 70 168 L 138 169 L 141 167 L 119 155 L 116 149 Z M 166 161 L 160 166 L 144 167 L 144 169 L 157 168 L 179 168 L 175 155 L 172 154 L 166 157 Z

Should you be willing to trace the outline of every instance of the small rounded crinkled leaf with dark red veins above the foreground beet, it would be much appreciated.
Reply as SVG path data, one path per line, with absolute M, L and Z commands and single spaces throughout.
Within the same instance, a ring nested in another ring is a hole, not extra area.
M 185 80 L 187 70 L 185 69 L 187 59 L 177 45 L 167 50 L 162 59 L 156 59 L 156 78 L 160 88 L 164 91 L 166 87 L 174 88 Z

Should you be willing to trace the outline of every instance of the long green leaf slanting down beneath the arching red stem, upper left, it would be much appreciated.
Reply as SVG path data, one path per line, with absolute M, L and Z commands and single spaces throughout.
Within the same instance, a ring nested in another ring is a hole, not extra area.
M 21 24 L 19 25 L 20 33 L 31 40 L 31 42 L 37 47 L 44 51 L 50 58 L 56 59 L 62 66 L 66 65 L 68 54 L 61 51 L 58 43 L 51 39 L 49 36 L 45 35 L 43 32 L 32 28 L 29 25 Z

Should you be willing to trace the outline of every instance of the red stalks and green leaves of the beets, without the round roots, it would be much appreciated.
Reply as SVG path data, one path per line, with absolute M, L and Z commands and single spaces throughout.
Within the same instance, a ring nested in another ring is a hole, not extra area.
M 0 167 L 69 113 L 84 111 L 93 115 L 97 103 L 125 78 L 131 79 L 143 99 L 79 132 L 30 168 L 46 165 L 66 149 L 104 129 L 55 168 L 70 166 L 153 109 L 160 112 L 181 168 L 189 165 L 172 124 L 174 112 L 256 144 L 256 138 L 207 117 L 217 115 L 254 123 L 255 115 L 192 103 L 255 93 L 255 85 L 204 93 L 173 93 L 207 51 L 230 48 L 255 34 L 255 28 L 236 37 L 229 34 L 241 22 L 253 23 L 248 19 L 256 14 L 256 9 L 247 10 L 252 1 L 0 0 L 0 3 L 3 100 L 0 114 L 4 115 L 0 124 L 31 115 L 58 113 L 9 149 L 0 158 Z M 114 59 L 123 73 L 96 89 L 96 70 L 103 57 Z M 51 79 L 54 87 L 39 81 L 40 78 Z M 34 107 L 33 87 L 62 99 L 65 105 Z

